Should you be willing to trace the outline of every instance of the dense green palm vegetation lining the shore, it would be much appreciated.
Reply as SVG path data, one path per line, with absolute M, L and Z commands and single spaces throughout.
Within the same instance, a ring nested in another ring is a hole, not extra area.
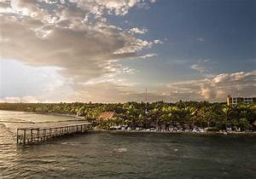
M 128 125 L 131 128 L 160 128 L 172 126 L 212 127 L 212 130 L 233 129 L 255 130 L 256 104 L 227 106 L 224 103 L 207 101 L 179 101 L 167 103 L 127 102 L 117 104 L 102 103 L 0 103 L 0 109 L 33 113 L 60 113 L 84 117 L 102 129 L 112 125 Z M 110 120 L 98 120 L 100 113 L 114 111 Z

